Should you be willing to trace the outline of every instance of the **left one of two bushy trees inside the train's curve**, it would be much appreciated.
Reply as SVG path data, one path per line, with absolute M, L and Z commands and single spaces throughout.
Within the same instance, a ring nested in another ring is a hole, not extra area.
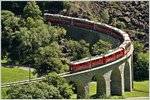
M 69 40 L 67 42 L 67 48 L 70 51 L 70 56 L 72 56 L 71 60 L 77 60 L 90 56 L 89 44 L 87 44 L 84 40 L 79 42 Z

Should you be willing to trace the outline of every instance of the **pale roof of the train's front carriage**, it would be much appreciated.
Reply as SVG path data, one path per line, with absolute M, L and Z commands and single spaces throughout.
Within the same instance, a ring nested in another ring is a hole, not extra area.
M 97 56 L 93 56 L 93 57 L 87 57 L 87 58 L 79 59 L 77 61 L 72 61 L 71 65 L 82 64 L 82 63 L 85 63 L 85 62 L 88 62 L 91 60 L 96 60 L 96 59 L 99 59 L 102 57 L 103 57 L 102 55 L 97 55 Z

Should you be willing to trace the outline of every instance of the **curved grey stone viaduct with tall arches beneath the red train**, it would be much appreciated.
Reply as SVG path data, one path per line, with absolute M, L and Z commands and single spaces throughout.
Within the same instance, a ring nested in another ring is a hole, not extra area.
M 133 50 L 131 44 L 130 51 L 118 60 L 75 73 L 68 72 L 61 76 L 68 82 L 76 84 L 77 98 L 89 95 L 89 83 L 93 77 L 97 82 L 97 95 L 121 96 L 125 91 L 132 91 L 133 88 Z

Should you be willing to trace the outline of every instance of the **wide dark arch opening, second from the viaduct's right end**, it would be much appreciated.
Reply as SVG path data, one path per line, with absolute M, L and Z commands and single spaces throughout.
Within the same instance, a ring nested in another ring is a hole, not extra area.
M 110 80 L 111 95 L 122 95 L 121 73 L 118 68 L 112 70 Z

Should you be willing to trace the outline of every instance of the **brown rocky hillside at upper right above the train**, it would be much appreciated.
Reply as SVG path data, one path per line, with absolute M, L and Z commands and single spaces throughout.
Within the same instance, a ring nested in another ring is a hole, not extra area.
M 126 31 L 132 34 L 133 40 L 144 43 L 148 48 L 149 37 L 149 2 L 148 1 L 78 1 L 63 12 L 64 15 L 82 17 L 96 21 L 102 21 L 101 16 L 104 9 L 108 9 L 111 20 L 116 18 L 117 21 L 124 22 Z M 136 34 L 132 33 L 132 30 Z

